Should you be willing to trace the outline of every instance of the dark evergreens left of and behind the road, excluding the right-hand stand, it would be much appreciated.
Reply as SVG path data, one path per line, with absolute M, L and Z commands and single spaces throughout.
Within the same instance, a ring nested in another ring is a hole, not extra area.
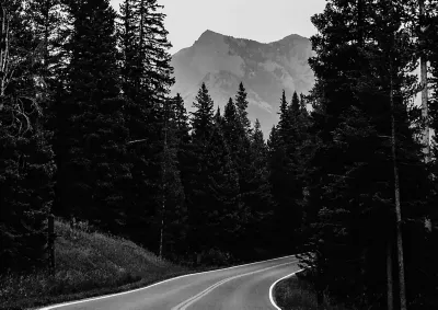
M 155 0 L 119 13 L 107 0 L 0 3 L 0 272 L 49 265 L 51 215 L 178 262 L 293 251 L 287 115 L 308 118 L 297 95 L 268 147 L 243 84 L 223 114 L 205 84 L 191 114 L 170 96 Z

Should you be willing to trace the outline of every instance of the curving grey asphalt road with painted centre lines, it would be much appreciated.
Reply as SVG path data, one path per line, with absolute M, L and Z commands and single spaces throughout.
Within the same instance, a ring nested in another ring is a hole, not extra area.
M 44 310 L 275 310 L 270 286 L 299 271 L 295 256 L 169 279 Z M 42 310 L 43 310 L 42 309 Z

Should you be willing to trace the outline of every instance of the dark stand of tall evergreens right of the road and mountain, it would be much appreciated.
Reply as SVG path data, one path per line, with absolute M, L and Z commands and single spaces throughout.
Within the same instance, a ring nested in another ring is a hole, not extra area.
M 320 305 L 437 308 L 437 4 L 327 1 L 312 18 L 301 263 Z

